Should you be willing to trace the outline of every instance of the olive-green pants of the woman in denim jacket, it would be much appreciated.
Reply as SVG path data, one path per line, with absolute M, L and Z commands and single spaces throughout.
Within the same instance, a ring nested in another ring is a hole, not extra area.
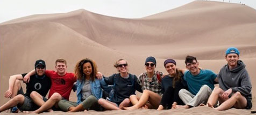
M 98 100 L 95 96 L 91 95 L 88 98 L 84 99 L 83 102 L 81 102 L 80 104 L 83 105 L 83 109 L 84 110 L 95 110 L 95 111 L 99 111 L 100 110 L 100 105 L 98 104 Z M 76 102 L 70 102 L 67 100 L 61 100 L 58 103 L 59 108 L 62 111 L 68 111 L 68 109 L 72 106 L 77 106 L 78 104 Z

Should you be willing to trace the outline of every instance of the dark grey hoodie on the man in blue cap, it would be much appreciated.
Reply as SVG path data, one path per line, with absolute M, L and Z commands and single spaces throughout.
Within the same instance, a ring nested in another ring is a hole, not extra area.
M 232 93 L 239 91 L 247 101 L 252 100 L 252 85 L 250 76 L 245 69 L 245 64 L 238 60 L 237 67 L 233 70 L 229 70 L 229 66 L 226 64 L 221 68 L 218 74 L 219 87 L 226 91 L 232 88 Z

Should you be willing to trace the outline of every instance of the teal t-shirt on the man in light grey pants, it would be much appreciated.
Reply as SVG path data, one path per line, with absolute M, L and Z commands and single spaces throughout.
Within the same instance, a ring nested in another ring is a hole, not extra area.
M 217 75 L 211 70 L 200 70 L 200 73 L 195 76 L 189 71 L 184 73 L 184 80 L 187 81 L 188 89 L 193 95 L 196 95 L 203 85 L 207 85 L 214 90 L 214 80 L 216 77 Z

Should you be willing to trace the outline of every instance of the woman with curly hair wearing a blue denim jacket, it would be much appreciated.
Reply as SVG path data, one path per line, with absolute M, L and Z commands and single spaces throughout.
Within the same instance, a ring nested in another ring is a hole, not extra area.
M 97 72 L 97 65 L 93 60 L 85 58 L 77 62 L 75 66 L 77 102 L 62 100 L 58 103 L 61 110 L 69 112 L 101 110 L 98 99 L 103 97 L 102 89 L 109 92 L 111 87 L 104 79 L 96 79 Z

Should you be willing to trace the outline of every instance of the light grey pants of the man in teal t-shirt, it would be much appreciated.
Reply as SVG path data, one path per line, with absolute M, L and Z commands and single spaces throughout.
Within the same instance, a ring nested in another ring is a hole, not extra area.
M 194 107 L 200 105 L 201 103 L 206 104 L 211 92 L 212 90 L 209 86 L 203 85 L 196 95 L 191 94 L 186 89 L 181 89 L 179 91 L 179 96 L 184 104 Z

